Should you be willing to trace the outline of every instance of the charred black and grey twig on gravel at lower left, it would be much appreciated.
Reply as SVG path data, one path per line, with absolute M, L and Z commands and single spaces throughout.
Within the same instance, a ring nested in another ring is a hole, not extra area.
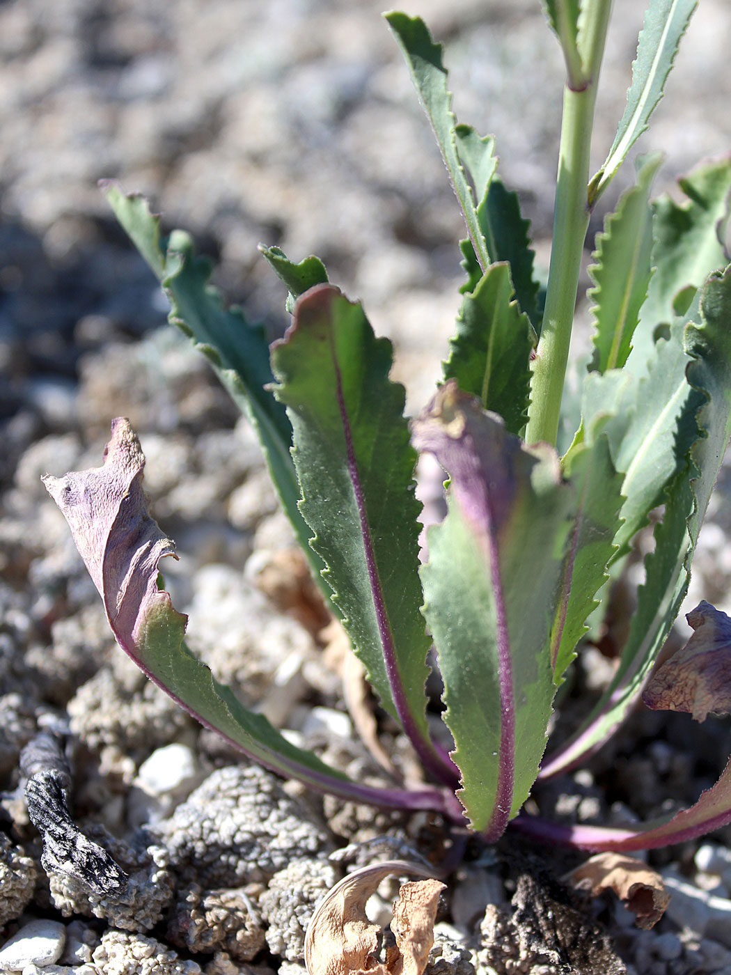
M 20 772 L 27 780 L 28 816 L 43 839 L 41 865 L 46 873 L 81 880 L 96 894 L 124 890 L 127 874 L 71 818 L 71 770 L 58 736 L 42 731 L 28 742 L 20 753 Z

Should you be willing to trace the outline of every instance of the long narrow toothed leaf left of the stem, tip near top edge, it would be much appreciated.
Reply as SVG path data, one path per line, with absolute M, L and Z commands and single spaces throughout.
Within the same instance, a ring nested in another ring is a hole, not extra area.
M 431 123 L 452 187 L 462 208 L 470 240 L 480 266 L 485 270 L 490 263 L 490 255 L 482 236 L 476 199 L 457 150 L 457 138 L 462 150 L 471 159 L 472 176 L 476 180 L 479 198 L 484 193 L 482 184 L 485 179 L 489 179 L 490 166 L 494 170 L 496 165 L 492 157 L 492 139 L 477 136 L 469 126 L 460 126 L 459 136 L 455 133 L 457 121 L 451 110 L 451 92 L 446 87 L 447 72 L 442 64 L 442 45 L 434 43 L 424 21 L 396 11 L 385 14 L 384 17 L 404 53 L 416 94 Z

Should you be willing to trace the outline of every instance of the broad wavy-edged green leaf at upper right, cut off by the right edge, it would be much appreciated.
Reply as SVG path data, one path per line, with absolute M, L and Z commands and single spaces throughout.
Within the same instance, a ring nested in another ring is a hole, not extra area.
M 653 204 L 655 271 L 628 360 L 633 371 L 642 369 L 657 327 L 684 315 L 709 274 L 726 265 L 721 242 L 729 218 L 731 158 L 704 163 L 678 185 L 687 200 L 676 204 L 664 195 Z

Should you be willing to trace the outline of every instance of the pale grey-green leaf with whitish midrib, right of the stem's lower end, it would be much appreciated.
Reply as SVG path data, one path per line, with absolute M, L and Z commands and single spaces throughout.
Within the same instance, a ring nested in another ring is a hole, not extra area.
M 698 435 L 696 413 L 703 395 L 686 379 L 689 357 L 682 330 L 660 339 L 645 375 L 628 370 L 591 372 L 585 379 L 582 413 L 585 429 L 606 416 L 614 466 L 625 475 L 624 523 L 617 531 L 615 558 L 623 555 L 650 511 L 663 500 L 665 487 L 686 464 Z M 571 450 L 569 450 L 570 456 Z

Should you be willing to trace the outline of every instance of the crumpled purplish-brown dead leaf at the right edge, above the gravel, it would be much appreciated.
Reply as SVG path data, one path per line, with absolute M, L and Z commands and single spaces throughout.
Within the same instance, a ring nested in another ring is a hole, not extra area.
M 697 722 L 731 713 L 731 618 L 703 600 L 685 617 L 695 633 L 661 664 L 642 693 L 648 708 Z

